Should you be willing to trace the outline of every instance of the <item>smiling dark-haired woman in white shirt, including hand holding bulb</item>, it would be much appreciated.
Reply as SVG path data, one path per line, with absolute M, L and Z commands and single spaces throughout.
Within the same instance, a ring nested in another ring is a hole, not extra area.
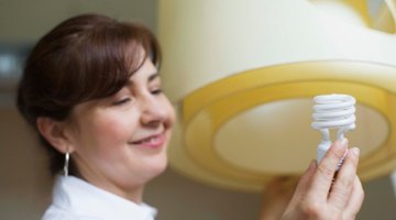
M 158 64 L 160 48 L 147 29 L 98 14 L 68 19 L 38 41 L 26 61 L 18 108 L 48 150 L 57 176 L 43 219 L 154 219 L 143 189 L 166 167 L 175 120 Z M 355 217 L 363 200 L 359 152 L 346 151 L 338 143 L 319 166 L 311 163 L 284 219 Z

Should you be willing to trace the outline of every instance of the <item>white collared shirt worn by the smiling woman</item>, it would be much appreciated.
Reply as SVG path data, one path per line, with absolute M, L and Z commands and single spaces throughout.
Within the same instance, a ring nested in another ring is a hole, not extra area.
M 154 220 L 156 212 L 77 177 L 59 176 L 42 220 Z

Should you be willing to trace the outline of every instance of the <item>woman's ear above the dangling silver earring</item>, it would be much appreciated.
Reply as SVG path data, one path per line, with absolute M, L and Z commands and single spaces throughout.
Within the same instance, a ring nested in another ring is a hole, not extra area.
M 36 119 L 38 132 L 50 142 L 58 152 L 73 152 L 72 144 L 65 135 L 65 123 L 51 119 L 48 117 L 38 117 Z

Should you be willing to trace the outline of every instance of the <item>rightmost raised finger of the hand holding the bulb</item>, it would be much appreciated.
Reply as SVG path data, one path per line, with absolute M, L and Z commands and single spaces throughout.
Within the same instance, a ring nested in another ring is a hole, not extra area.
M 353 147 L 348 151 L 344 162 L 337 175 L 336 182 L 331 187 L 329 202 L 331 202 L 340 210 L 344 209 L 345 206 L 350 202 L 351 194 L 353 190 L 356 190 L 354 187 L 359 188 L 359 186 L 355 186 L 359 154 L 360 152 L 358 147 Z

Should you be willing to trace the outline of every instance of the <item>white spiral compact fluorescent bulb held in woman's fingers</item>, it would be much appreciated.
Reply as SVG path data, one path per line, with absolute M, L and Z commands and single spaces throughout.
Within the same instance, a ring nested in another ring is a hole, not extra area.
M 317 150 L 317 163 L 323 158 L 331 146 L 330 129 L 339 129 L 337 140 L 343 140 L 346 131 L 355 128 L 355 102 L 349 95 L 321 95 L 314 98 L 312 128 L 322 133 L 322 140 Z M 341 162 L 342 163 L 342 162 Z

